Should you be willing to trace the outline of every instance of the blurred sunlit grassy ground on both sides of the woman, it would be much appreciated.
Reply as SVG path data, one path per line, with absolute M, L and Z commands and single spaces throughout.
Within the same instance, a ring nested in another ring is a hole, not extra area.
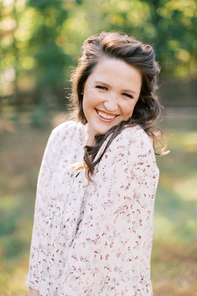
M 25 296 L 37 175 L 52 127 L 65 119 L 50 113 L 31 122 L 4 116 L 0 132 L 0 296 Z M 160 124 L 170 153 L 157 156 L 152 252 L 154 296 L 197 295 L 196 110 L 169 110 Z M 41 126 L 36 128 L 35 126 Z

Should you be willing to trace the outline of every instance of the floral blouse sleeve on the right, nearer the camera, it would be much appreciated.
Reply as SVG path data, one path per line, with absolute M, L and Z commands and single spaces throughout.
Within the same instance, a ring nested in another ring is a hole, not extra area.
M 150 256 L 159 172 L 149 137 L 127 128 L 87 186 L 58 296 L 152 296 Z

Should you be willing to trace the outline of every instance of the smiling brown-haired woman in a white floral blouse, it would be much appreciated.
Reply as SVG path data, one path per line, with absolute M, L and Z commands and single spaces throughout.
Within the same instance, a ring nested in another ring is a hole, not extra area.
M 38 176 L 30 295 L 153 295 L 157 74 L 150 45 L 118 33 L 85 40 L 77 119 L 52 131 Z

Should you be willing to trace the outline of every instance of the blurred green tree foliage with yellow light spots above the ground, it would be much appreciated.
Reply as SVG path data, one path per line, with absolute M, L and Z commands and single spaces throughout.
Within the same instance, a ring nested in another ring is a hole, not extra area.
M 153 44 L 163 78 L 195 83 L 195 29 L 196 0 L 1 0 L 1 105 L 62 103 L 79 48 L 102 30 Z

